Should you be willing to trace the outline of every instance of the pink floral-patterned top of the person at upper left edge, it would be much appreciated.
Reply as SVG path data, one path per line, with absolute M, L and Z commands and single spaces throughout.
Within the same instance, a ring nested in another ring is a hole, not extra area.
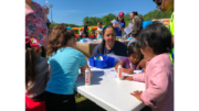
M 43 45 L 46 46 L 48 26 L 45 23 L 45 14 L 41 5 L 36 5 L 36 11 L 25 8 L 25 36 L 35 37 Z

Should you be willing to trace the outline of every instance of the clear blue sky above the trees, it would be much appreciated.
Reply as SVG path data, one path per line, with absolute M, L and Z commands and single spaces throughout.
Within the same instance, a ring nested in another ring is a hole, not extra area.
M 45 0 L 33 0 L 41 5 Z M 156 9 L 153 0 L 48 0 L 53 4 L 52 20 L 56 23 L 73 23 L 83 25 L 85 16 L 102 18 L 108 13 L 115 15 L 123 11 L 130 13 L 137 11 L 139 14 L 146 14 Z M 51 21 L 51 10 L 48 15 Z

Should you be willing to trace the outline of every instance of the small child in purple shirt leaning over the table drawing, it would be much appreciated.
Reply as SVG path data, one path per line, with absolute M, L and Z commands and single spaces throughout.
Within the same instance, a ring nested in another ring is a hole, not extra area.
M 133 74 L 137 67 L 137 64 L 143 59 L 143 54 L 140 53 L 139 44 L 134 42 L 129 44 L 127 54 L 129 57 L 123 58 L 116 66 L 117 70 L 118 65 L 123 66 L 123 73 Z

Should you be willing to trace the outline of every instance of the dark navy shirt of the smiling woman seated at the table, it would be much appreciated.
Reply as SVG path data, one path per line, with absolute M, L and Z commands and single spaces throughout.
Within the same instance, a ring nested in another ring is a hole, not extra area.
M 94 57 L 97 54 L 101 54 L 101 46 L 102 43 L 98 44 L 97 46 L 95 46 L 95 48 L 93 49 L 93 54 L 92 56 Z M 127 56 L 127 46 L 118 41 L 115 41 L 115 45 L 112 49 L 107 49 L 106 45 L 104 45 L 104 55 L 117 55 L 117 56 Z

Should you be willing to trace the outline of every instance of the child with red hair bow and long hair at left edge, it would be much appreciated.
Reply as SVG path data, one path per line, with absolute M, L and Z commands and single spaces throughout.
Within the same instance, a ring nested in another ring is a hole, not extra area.
M 35 102 L 44 101 L 49 80 L 48 58 L 41 52 L 38 40 L 25 37 L 25 95 Z

